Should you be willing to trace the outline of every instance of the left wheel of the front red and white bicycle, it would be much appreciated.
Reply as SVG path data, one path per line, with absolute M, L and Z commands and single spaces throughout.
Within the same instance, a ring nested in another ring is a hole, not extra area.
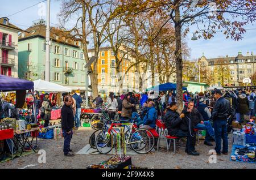
M 115 137 L 113 132 L 108 130 L 102 130 L 96 138 L 96 149 L 101 154 L 108 154 L 114 147 Z

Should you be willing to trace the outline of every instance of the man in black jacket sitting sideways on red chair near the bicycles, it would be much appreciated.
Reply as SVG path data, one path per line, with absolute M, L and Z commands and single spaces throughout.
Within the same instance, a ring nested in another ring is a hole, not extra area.
M 187 152 L 188 155 L 199 156 L 199 153 L 195 151 L 195 145 L 192 143 L 189 131 L 181 130 L 181 125 L 183 124 L 183 121 L 185 121 L 185 114 L 181 113 L 179 115 L 179 113 L 176 112 L 177 109 L 177 103 L 171 102 L 170 106 L 167 107 L 166 114 L 164 115 L 164 122 L 166 123 L 168 134 L 179 138 L 187 137 L 185 152 Z

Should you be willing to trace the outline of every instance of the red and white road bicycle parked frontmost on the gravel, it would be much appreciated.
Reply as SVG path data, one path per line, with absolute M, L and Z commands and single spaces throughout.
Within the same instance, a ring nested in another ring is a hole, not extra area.
M 131 126 L 129 134 L 125 133 L 124 145 L 130 145 L 133 151 L 139 154 L 148 153 L 154 148 L 155 138 L 152 132 L 143 128 L 137 128 L 132 123 L 112 123 L 107 130 L 99 132 L 96 138 L 97 151 L 102 154 L 108 154 L 112 151 L 115 142 L 118 143 L 119 127 L 118 126 Z M 116 131 L 118 130 L 118 131 Z

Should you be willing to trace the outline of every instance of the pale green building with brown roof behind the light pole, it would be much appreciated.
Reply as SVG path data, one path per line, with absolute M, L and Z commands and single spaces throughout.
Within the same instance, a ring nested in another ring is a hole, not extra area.
M 46 25 L 43 20 L 19 35 L 18 76 L 45 79 Z M 85 90 L 85 59 L 81 42 L 62 29 L 50 28 L 50 81 L 71 89 Z M 90 82 L 89 82 L 90 83 Z

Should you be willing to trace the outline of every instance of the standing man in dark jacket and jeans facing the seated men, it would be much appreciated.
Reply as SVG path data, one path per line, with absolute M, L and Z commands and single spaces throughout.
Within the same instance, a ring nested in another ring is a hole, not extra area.
M 212 112 L 213 127 L 216 141 L 216 153 L 221 155 L 221 139 L 223 140 L 222 153 L 228 155 L 228 127 L 227 120 L 230 115 L 230 103 L 224 97 L 220 89 L 214 90 L 216 104 Z

